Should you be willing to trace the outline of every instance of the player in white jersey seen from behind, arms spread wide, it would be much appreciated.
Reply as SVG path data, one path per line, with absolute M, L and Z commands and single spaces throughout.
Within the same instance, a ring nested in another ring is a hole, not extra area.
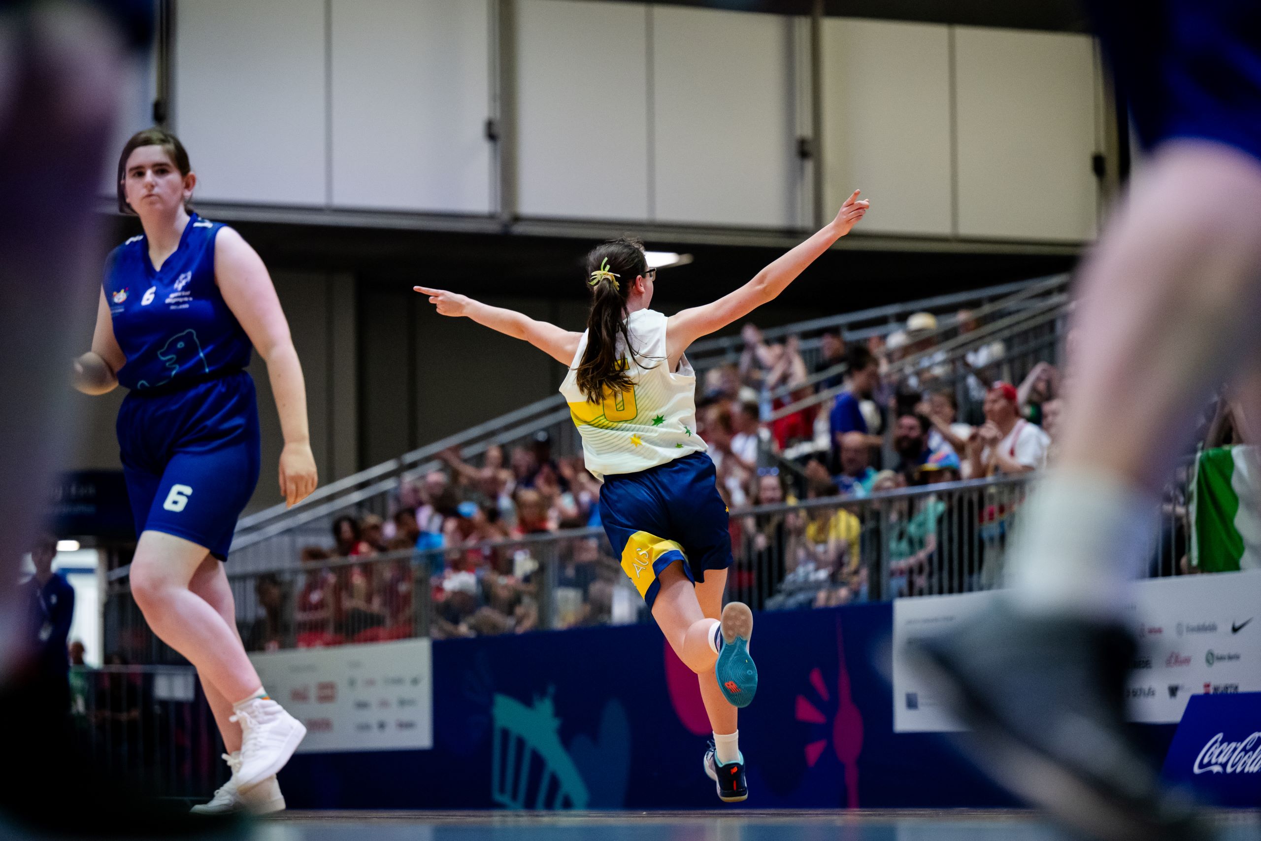
M 731 566 L 728 512 L 696 434 L 696 377 L 683 353 L 776 298 L 866 209 L 855 190 L 831 223 L 757 277 L 668 318 L 648 309 L 656 271 L 643 246 L 632 240 L 596 246 L 586 257 L 593 300 L 584 333 L 415 287 L 439 314 L 525 339 L 569 367 L 561 392 L 583 436 L 586 469 L 604 480 L 601 523 L 670 646 L 699 677 L 714 728 L 705 773 L 725 802 L 748 797 L 736 710 L 758 687 L 749 656 L 753 614 L 739 601 L 723 606 Z

